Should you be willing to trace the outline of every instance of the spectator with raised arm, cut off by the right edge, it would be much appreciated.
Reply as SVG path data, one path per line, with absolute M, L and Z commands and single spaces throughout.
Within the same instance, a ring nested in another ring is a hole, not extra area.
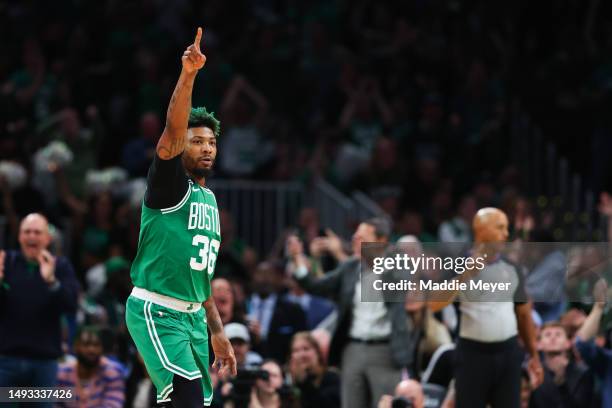
M 586 365 L 601 382 L 602 406 L 609 407 L 612 406 L 612 351 L 598 346 L 594 341 L 607 301 L 606 291 L 606 282 L 600 280 L 593 290 L 593 308 L 576 332 L 575 345 Z

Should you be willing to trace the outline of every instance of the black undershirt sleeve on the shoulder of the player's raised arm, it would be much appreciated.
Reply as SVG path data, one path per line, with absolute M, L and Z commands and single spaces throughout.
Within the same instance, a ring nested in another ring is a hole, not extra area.
M 149 167 L 145 205 L 149 208 L 169 208 L 178 204 L 189 187 L 181 155 L 162 160 L 157 154 Z

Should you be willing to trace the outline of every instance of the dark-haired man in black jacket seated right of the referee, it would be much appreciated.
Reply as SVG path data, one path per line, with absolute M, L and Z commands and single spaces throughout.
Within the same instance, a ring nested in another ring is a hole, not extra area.
M 538 350 L 543 356 L 544 382 L 531 394 L 530 406 L 590 407 L 593 377 L 584 364 L 573 361 L 571 343 L 561 324 L 542 326 Z

